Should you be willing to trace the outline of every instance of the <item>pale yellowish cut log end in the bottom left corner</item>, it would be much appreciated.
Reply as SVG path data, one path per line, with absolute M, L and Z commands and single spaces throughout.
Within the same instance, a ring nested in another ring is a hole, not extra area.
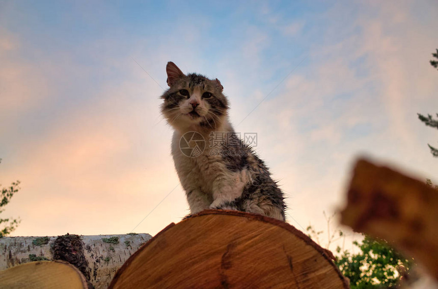
M 0 271 L 0 289 L 88 289 L 87 279 L 63 261 L 38 261 Z

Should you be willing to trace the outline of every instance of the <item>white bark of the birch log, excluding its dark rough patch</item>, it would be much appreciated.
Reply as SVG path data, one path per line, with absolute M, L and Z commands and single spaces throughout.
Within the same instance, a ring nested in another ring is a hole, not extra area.
M 103 241 L 104 238 L 112 237 L 118 238 L 117 244 Z M 35 261 L 31 254 L 36 255 L 36 258 L 53 260 L 53 245 L 58 237 L 47 237 L 47 244 L 41 245 L 38 243 L 45 243 L 45 240 L 39 238 L 41 237 L 0 238 L 0 270 Z M 100 289 L 108 287 L 117 270 L 151 235 L 94 235 L 80 238 L 84 243 L 83 254 L 88 264 L 84 275 L 89 275 L 91 283 L 96 289 Z

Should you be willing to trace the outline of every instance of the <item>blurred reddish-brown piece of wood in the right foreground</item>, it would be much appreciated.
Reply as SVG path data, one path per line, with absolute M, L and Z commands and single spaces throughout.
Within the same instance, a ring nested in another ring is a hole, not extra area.
M 343 224 L 393 243 L 438 279 L 438 191 L 360 159 L 347 202 Z

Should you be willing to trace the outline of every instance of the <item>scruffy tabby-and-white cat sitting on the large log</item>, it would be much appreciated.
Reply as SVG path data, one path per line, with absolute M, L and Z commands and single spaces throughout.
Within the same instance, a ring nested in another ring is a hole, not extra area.
M 234 132 L 221 82 L 185 75 L 173 62 L 166 72 L 169 89 L 161 95 L 161 113 L 174 129 L 172 156 L 190 213 L 238 210 L 284 221 L 284 194 L 253 148 Z M 208 147 L 215 135 L 226 135 L 233 145 L 222 141 Z

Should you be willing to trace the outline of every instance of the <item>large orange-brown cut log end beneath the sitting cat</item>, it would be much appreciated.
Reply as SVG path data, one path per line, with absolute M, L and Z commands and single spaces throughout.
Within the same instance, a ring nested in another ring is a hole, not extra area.
M 170 224 L 133 254 L 112 289 L 348 288 L 327 251 L 289 224 L 206 210 Z

